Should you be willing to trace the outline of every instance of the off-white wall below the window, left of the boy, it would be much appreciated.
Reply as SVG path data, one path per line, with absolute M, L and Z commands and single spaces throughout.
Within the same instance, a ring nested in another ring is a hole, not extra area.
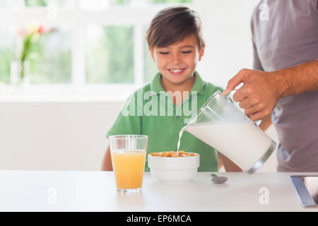
M 99 170 L 121 105 L 0 103 L 0 169 Z

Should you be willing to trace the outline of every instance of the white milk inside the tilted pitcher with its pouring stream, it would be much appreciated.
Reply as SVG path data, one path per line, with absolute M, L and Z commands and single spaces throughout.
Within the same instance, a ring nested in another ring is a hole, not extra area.
M 184 130 L 199 138 L 204 143 L 216 148 L 220 153 L 230 158 L 242 170 L 251 169 L 269 149 L 272 141 L 253 122 L 245 124 L 223 125 L 191 125 L 184 126 L 179 132 L 177 150 Z M 192 150 L 196 152 L 196 150 Z

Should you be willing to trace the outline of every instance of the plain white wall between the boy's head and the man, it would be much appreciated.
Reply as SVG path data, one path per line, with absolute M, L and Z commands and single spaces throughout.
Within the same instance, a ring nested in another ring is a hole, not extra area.
M 225 88 L 243 68 L 252 68 L 250 18 L 258 1 L 196 0 L 206 51 L 198 71 L 206 81 Z

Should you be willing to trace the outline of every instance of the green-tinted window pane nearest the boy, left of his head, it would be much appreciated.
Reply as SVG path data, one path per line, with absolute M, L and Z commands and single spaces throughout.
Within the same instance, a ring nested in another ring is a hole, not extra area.
M 133 26 L 86 28 L 86 82 L 134 83 Z

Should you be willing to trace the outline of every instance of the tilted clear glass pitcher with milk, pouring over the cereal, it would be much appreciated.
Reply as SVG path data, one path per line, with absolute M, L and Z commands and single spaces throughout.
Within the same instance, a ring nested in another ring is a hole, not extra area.
M 247 174 L 269 158 L 276 143 L 220 91 L 199 109 L 185 131 L 228 157 Z

